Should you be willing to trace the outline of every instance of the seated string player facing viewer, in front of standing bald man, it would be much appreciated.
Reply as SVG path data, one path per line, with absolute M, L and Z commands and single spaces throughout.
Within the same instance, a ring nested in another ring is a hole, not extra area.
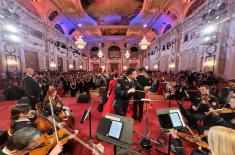
M 44 115 L 47 117 L 51 115 L 50 102 L 53 105 L 55 115 L 58 115 L 64 109 L 70 110 L 68 107 L 63 105 L 63 103 L 61 102 L 61 99 L 57 95 L 57 91 L 56 91 L 55 87 L 53 87 L 53 86 L 49 87 L 49 89 L 47 91 L 47 95 L 44 99 L 44 108 L 45 108 Z

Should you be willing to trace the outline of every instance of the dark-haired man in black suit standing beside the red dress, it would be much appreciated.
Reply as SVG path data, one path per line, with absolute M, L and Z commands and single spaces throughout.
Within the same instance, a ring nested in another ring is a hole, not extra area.
M 129 101 L 135 92 L 134 80 L 137 77 L 137 72 L 133 68 L 126 71 L 126 75 L 117 79 L 114 89 L 114 113 L 125 116 Z

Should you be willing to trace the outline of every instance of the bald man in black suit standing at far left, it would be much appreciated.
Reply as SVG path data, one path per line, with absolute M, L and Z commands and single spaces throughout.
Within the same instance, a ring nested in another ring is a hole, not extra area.
M 31 68 L 26 69 L 25 77 L 22 80 L 22 83 L 25 87 L 25 93 L 26 96 L 30 100 L 30 105 L 32 109 L 35 109 L 35 105 L 40 101 L 41 96 L 41 88 L 36 81 L 36 79 L 33 78 L 34 70 Z

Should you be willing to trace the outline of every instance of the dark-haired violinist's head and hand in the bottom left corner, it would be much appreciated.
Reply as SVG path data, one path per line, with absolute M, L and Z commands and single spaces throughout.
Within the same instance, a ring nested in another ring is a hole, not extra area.
M 36 148 L 40 140 L 41 132 L 36 128 L 24 127 L 17 130 L 6 142 L 6 146 L 0 150 L 0 155 L 24 155 Z M 62 145 L 58 143 L 49 155 L 58 155 L 62 151 Z

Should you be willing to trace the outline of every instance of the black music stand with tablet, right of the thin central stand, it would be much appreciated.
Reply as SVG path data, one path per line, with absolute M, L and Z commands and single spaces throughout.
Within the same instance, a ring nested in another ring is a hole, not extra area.
M 158 119 L 159 119 L 159 124 L 161 127 L 161 134 L 166 134 L 168 135 L 168 151 L 167 153 L 157 149 L 158 152 L 165 154 L 165 155 L 170 155 L 171 152 L 171 140 L 172 140 L 172 136 L 169 133 L 170 129 L 176 129 L 176 130 L 180 130 L 180 129 L 184 129 L 185 128 L 185 123 L 183 121 L 182 115 L 180 113 L 179 108 L 166 108 L 166 109 L 159 109 L 156 110 Z M 171 113 L 178 113 L 179 119 L 181 121 L 180 126 L 174 127 L 173 123 L 172 123 L 172 119 L 170 118 L 169 114 Z M 158 138 L 158 140 L 160 139 L 160 137 Z

